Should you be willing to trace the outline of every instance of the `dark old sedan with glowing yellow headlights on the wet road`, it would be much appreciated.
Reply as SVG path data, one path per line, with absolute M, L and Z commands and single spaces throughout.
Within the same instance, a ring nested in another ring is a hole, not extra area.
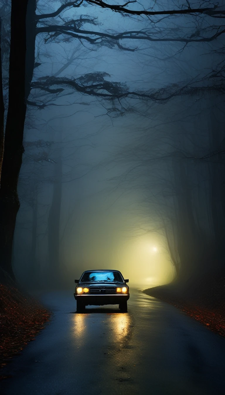
M 121 312 L 127 312 L 129 280 L 119 270 L 86 270 L 80 280 L 74 281 L 77 312 L 84 311 L 87 305 L 119 305 Z

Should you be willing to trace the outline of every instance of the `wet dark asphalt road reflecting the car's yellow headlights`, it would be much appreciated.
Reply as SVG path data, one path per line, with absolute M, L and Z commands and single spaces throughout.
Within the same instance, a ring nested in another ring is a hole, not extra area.
M 225 339 L 177 308 L 137 290 L 128 313 L 77 314 L 73 292 L 42 301 L 52 321 L 5 367 L 2 395 L 225 393 Z

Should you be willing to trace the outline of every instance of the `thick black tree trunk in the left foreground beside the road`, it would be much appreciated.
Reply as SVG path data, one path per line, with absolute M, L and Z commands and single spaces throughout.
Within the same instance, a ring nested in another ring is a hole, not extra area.
M 14 278 L 11 258 L 13 234 L 20 204 L 17 182 L 22 163 L 23 131 L 26 116 L 25 61 L 26 11 L 28 0 L 11 1 L 11 45 L 9 55 L 9 105 L 4 139 L 0 188 L 1 268 Z M 2 277 L 3 274 L 2 274 Z

